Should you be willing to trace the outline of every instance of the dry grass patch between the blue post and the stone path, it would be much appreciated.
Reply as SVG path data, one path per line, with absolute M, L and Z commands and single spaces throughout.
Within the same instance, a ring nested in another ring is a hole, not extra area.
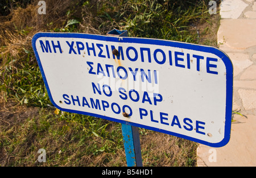
M 141 136 L 142 159 L 148 165 L 183 167 L 190 162 L 195 166 L 197 146 L 195 142 L 153 131 Z

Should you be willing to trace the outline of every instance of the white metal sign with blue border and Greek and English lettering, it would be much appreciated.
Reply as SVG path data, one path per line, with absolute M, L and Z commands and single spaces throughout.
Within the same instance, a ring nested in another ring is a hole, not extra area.
M 212 147 L 229 142 L 233 66 L 214 47 L 170 40 L 38 33 L 52 104 Z

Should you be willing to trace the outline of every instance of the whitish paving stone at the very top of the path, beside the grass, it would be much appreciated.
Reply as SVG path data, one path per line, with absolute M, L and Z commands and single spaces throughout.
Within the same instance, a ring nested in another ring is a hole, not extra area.
M 237 19 L 247 6 L 242 0 L 223 0 L 220 5 L 221 18 Z

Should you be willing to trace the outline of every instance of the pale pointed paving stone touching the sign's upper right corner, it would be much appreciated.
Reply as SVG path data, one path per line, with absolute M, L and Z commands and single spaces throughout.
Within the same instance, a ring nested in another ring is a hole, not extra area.
M 232 61 L 234 68 L 234 77 L 237 76 L 243 69 L 249 67 L 253 64 L 252 61 L 249 60 L 249 55 L 244 53 L 227 53 L 230 60 Z

